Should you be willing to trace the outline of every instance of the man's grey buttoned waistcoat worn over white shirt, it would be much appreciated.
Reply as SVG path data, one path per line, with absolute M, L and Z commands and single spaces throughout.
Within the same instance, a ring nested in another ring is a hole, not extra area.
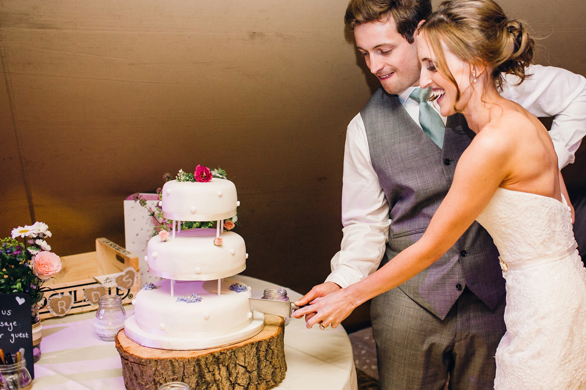
M 411 119 L 397 95 L 380 88 L 360 111 L 370 158 L 389 202 L 389 243 L 381 266 L 423 236 L 448 192 L 473 132 L 461 114 L 448 118 L 440 149 Z M 495 161 L 495 164 L 498 164 Z M 505 293 L 498 251 L 477 222 L 434 264 L 399 288 L 444 319 L 465 286 L 495 308 Z

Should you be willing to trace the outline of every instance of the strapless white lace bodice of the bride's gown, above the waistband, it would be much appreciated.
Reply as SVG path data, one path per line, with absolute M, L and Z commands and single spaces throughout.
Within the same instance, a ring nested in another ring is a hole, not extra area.
M 533 260 L 574 244 L 570 208 L 562 200 L 499 187 L 476 220 L 507 263 Z

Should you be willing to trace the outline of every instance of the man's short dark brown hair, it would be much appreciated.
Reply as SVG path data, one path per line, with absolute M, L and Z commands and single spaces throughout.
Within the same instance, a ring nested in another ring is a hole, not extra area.
M 393 18 L 397 32 L 413 43 L 413 33 L 421 20 L 431 13 L 431 0 L 350 0 L 344 23 L 354 31 L 356 25 L 386 22 Z

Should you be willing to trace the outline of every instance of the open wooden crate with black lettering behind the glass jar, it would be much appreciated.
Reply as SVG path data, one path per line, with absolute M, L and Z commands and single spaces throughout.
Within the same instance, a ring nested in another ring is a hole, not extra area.
M 62 270 L 43 285 L 50 289 L 39 303 L 42 319 L 96 310 L 105 294 L 130 303 L 141 288 L 138 257 L 103 237 L 96 240 L 95 252 L 63 256 L 61 262 Z

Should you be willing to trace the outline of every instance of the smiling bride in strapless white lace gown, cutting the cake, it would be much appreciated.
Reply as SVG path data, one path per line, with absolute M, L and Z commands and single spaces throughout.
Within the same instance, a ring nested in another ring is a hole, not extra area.
M 307 326 L 337 326 L 361 303 L 438 260 L 478 220 L 500 253 L 507 332 L 495 389 L 586 389 L 586 270 L 547 130 L 499 95 L 523 81 L 533 40 L 492 0 L 448 0 L 419 27 L 420 85 L 443 116 L 464 114 L 476 136 L 419 241 L 369 277 L 296 310 Z

